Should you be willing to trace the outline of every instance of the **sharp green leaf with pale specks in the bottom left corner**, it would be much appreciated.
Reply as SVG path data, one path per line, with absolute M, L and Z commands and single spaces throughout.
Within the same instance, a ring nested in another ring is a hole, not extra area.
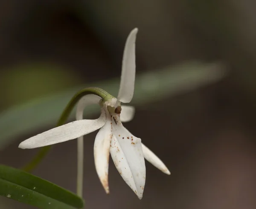
M 0 165 L 0 195 L 41 209 L 81 209 L 83 200 L 47 180 Z

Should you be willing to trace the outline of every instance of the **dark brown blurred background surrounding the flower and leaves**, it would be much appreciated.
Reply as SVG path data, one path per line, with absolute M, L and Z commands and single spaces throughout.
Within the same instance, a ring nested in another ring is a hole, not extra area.
M 93 162 L 96 133 L 85 136 L 85 208 L 254 209 L 255 6 L 252 0 L 0 0 L 0 110 L 118 78 L 125 39 L 138 27 L 137 75 L 189 60 L 221 62 L 229 73 L 136 106 L 126 127 L 172 172 L 146 163 L 142 200 L 112 161 L 105 194 Z M 20 168 L 38 150 L 17 145 L 52 127 L 17 136 L 1 150 L 0 163 Z M 75 192 L 76 140 L 55 145 L 33 174 Z M 0 205 L 33 208 L 4 197 Z

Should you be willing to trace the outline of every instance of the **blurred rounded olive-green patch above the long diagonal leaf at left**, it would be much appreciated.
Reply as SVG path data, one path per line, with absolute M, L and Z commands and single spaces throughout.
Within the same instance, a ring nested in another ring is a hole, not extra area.
M 79 78 L 63 67 L 33 62 L 20 64 L 0 72 L 0 87 L 5 90 L 1 105 L 21 104 L 35 96 L 49 95 L 73 86 Z

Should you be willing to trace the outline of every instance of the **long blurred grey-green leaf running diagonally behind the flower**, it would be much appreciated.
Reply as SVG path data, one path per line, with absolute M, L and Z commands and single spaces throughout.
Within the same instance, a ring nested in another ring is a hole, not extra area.
M 137 75 L 133 105 L 143 105 L 148 102 L 174 96 L 177 93 L 191 91 L 197 87 L 213 83 L 226 75 L 219 64 L 203 64 L 189 62 L 177 66 L 166 67 Z M 12 107 L 0 114 L 0 148 L 10 144 L 20 134 L 25 134 L 47 125 L 55 125 L 64 107 L 72 96 L 84 87 L 100 87 L 113 96 L 119 90 L 119 78 L 102 81 L 45 97 L 34 99 L 26 104 Z M 87 107 L 86 116 L 99 111 L 99 107 Z M 74 111 L 71 115 L 74 118 Z

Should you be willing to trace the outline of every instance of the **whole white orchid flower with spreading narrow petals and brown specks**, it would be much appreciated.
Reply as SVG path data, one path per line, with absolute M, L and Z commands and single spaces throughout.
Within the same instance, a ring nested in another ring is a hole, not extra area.
M 105 191 L 109 193 L 108 163 L 109 154 L 111 154 L 119 174 L 141 199 L 146 177 L 144 158 L 164 173 L 170 174 L 170 171 L 152 151 L 141 143 L 140 138 L 132 135 L 122 125 L 122 121 L 128 122 L 134 116 L 134 107 L 121 107 L 121 102 L 131 102 L 134 94 L 137 31 L 137 28 L 132 30 L 125 43 L 121 82 L 117 98 L 102 89 L 89 88 L 91 94 L 84 96 L 78 103 L 76 121 L 26 139 L 20 143 L 19 148 L 38 148 L 76 138 L 79 138 L 80 144 L 78 145 L 81 145 L 82 136 L 99 129 L 94 142 L 94 160 L 96 172 Z M 89 104 L 100 105 L 101 115 L 98 119 L 82 118 L 84 107 Z M 83 154 L 81 147 L 79 146 L 80 156 Z

